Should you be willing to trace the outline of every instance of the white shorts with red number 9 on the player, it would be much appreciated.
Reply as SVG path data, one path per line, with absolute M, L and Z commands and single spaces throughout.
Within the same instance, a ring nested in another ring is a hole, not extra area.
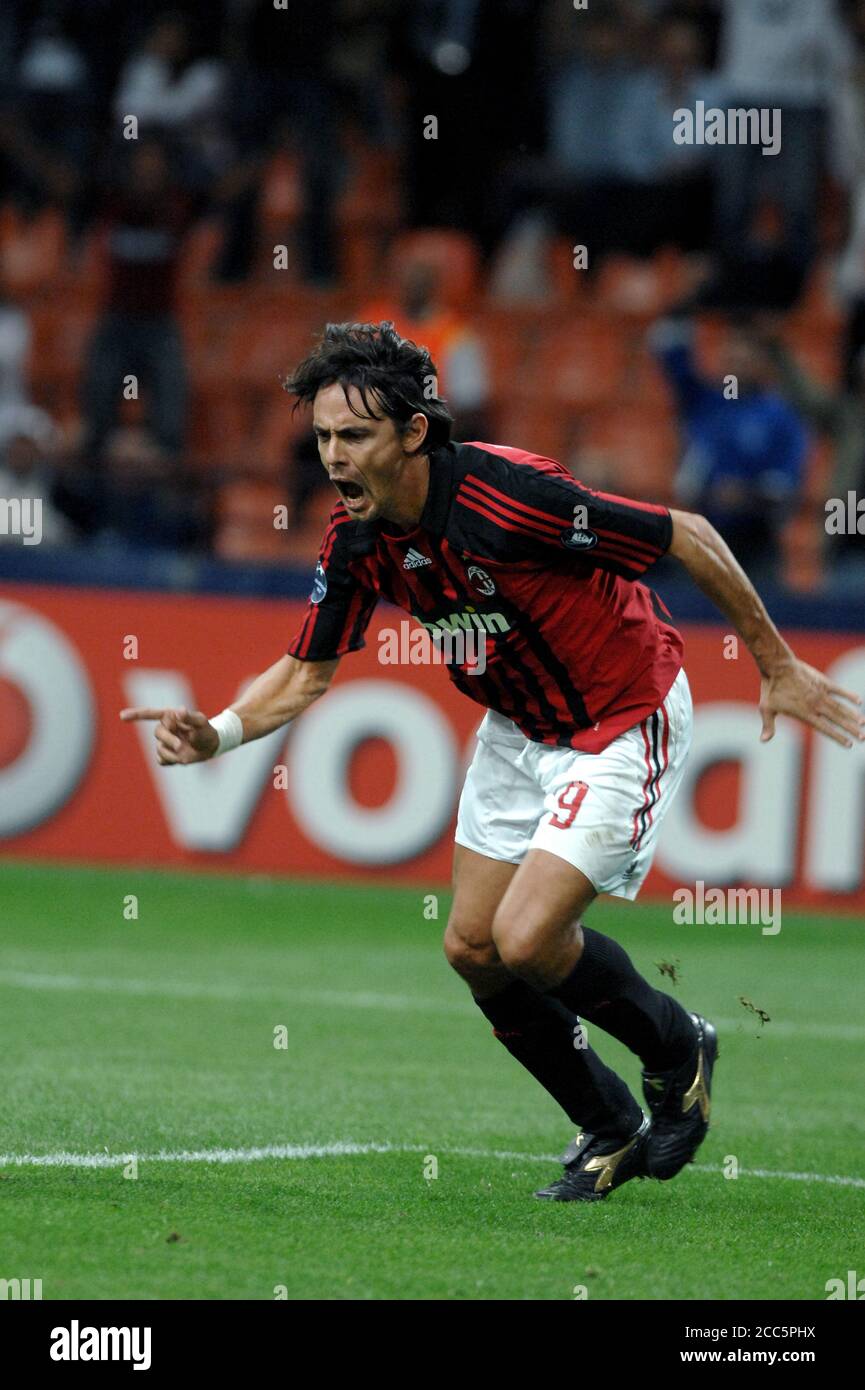
M 691 727 L 684 670 L 659 709 L 601 753 L 535 744 L 513 720 L 487 710 L 459 801 L 456 844 L 509 863 L 547 849 L 598 892 L 636 898 L 684 773 Z

